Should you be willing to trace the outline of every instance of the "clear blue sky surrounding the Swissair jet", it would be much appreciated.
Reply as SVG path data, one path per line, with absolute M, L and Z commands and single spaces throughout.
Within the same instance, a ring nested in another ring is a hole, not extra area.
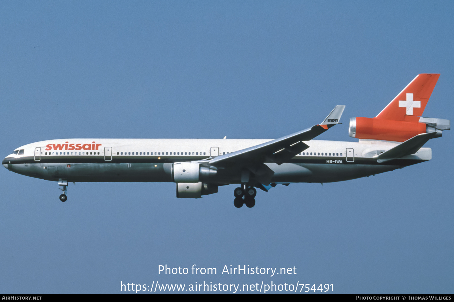
M 354 141 L 417 74 L 424 116 L 451 119 L 449 1 L 10 1 L 0 4 L 3 157 L 60 138 L 263 138 L 341 122 Z M 335 293 L 452 293 L 452 134 L 433 159 L 370 178 L 291 184 L 233 206 L 173 183 L 57 183 L 0 170 L 0 292 L 119 293 L 134 284 L 334 284 Z M 451 147 L 449 147 L 451 146 Z M 158 265 L 217 275 L 158 275 Z M 295 275 L 221 274 L 297 267 Z

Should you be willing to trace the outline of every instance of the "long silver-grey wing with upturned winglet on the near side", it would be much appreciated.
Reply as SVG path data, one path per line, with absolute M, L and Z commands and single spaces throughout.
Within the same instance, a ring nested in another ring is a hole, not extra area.
M 229 166 L 232 164 L 252 167 L 265 162 L 277 163 L 279 165 L 285 163 L 288 159 L 295 157 L 298 153 L 309 148 L 302 141 L 311 140 L 335 124 L 339 124 L 344 108 L 344 105 L 336 106 L 321 124 L 257 146 L 217 156 L 207 161 L 207 163 L 215 167 Z

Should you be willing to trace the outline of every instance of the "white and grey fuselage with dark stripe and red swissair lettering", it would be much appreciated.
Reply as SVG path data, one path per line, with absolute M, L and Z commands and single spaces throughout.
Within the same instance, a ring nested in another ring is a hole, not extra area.
M 16 173 L 68 182 L 172 182 L 172 164 L 246 149 L 271 139 L 54 139 L 21 146 L 3 160 Z M 399 143 L 311 140 L 309 148 L 278 165 L 273 183 L 336 182 L 402 168 L 431 159 L 421 148 L 403 158 L 377 163 L 373 156 Z M 241 183 L 241 171 L 218 169 L 216 185 Z

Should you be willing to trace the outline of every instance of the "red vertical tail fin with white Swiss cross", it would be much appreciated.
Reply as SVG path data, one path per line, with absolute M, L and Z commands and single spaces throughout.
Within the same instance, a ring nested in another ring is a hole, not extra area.
M 439 76 L 440 74 L 418 74 L 375 118 L 419 121 Z

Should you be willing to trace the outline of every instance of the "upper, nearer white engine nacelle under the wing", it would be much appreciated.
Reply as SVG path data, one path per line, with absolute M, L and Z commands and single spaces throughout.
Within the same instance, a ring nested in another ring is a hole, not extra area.
M 199 163 L 173 163 L 172 181 L 175 183 L 198 183 L 201 180 L 208 180 L 217 173 L 217 170 L 210 167 L 203 167 Z

